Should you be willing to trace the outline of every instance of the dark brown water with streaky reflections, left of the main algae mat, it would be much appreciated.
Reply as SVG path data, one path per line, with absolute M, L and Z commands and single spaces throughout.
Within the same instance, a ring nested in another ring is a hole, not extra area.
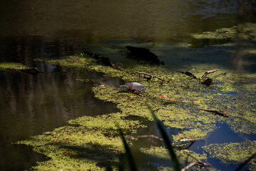
M 0 74 L 0 167 L 3 170 L 22 170 L 43 159 L 28 147 L 14 147 L 11 142 L 58 128 L 66 124 L 66 120 L 82 115 L 117 111 L 112 103 L 93 98 L 91 83 L 76 81 L 77 78 L 102 78 L 101 74 L 37 64 L 43 66 L 39 69 L 46 73 Z M 105 78 L 104 81 L 119 85 L 118 79 Z

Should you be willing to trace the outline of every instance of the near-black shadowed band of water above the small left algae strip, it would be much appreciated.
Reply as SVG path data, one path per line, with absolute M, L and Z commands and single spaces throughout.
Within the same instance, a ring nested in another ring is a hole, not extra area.
M 0 62 L 17 62 L 35 67 L 34 58 L 71 55 L 78 50 L 78 44 L 39 36 L 5 37 L 0 38 L 0 49 Z

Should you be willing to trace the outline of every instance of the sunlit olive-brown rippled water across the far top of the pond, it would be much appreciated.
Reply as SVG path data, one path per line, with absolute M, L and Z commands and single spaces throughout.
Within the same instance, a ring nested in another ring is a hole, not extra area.
M 255 21 L 251 1 L 8 1 L 0 36 L 43 36 L 88 43 L 113 38 L 188 41 L 188 33 Z M 249 15 L 248 15 L 249 14 Z M 249 17 L 248 17 L 249 16 Z

